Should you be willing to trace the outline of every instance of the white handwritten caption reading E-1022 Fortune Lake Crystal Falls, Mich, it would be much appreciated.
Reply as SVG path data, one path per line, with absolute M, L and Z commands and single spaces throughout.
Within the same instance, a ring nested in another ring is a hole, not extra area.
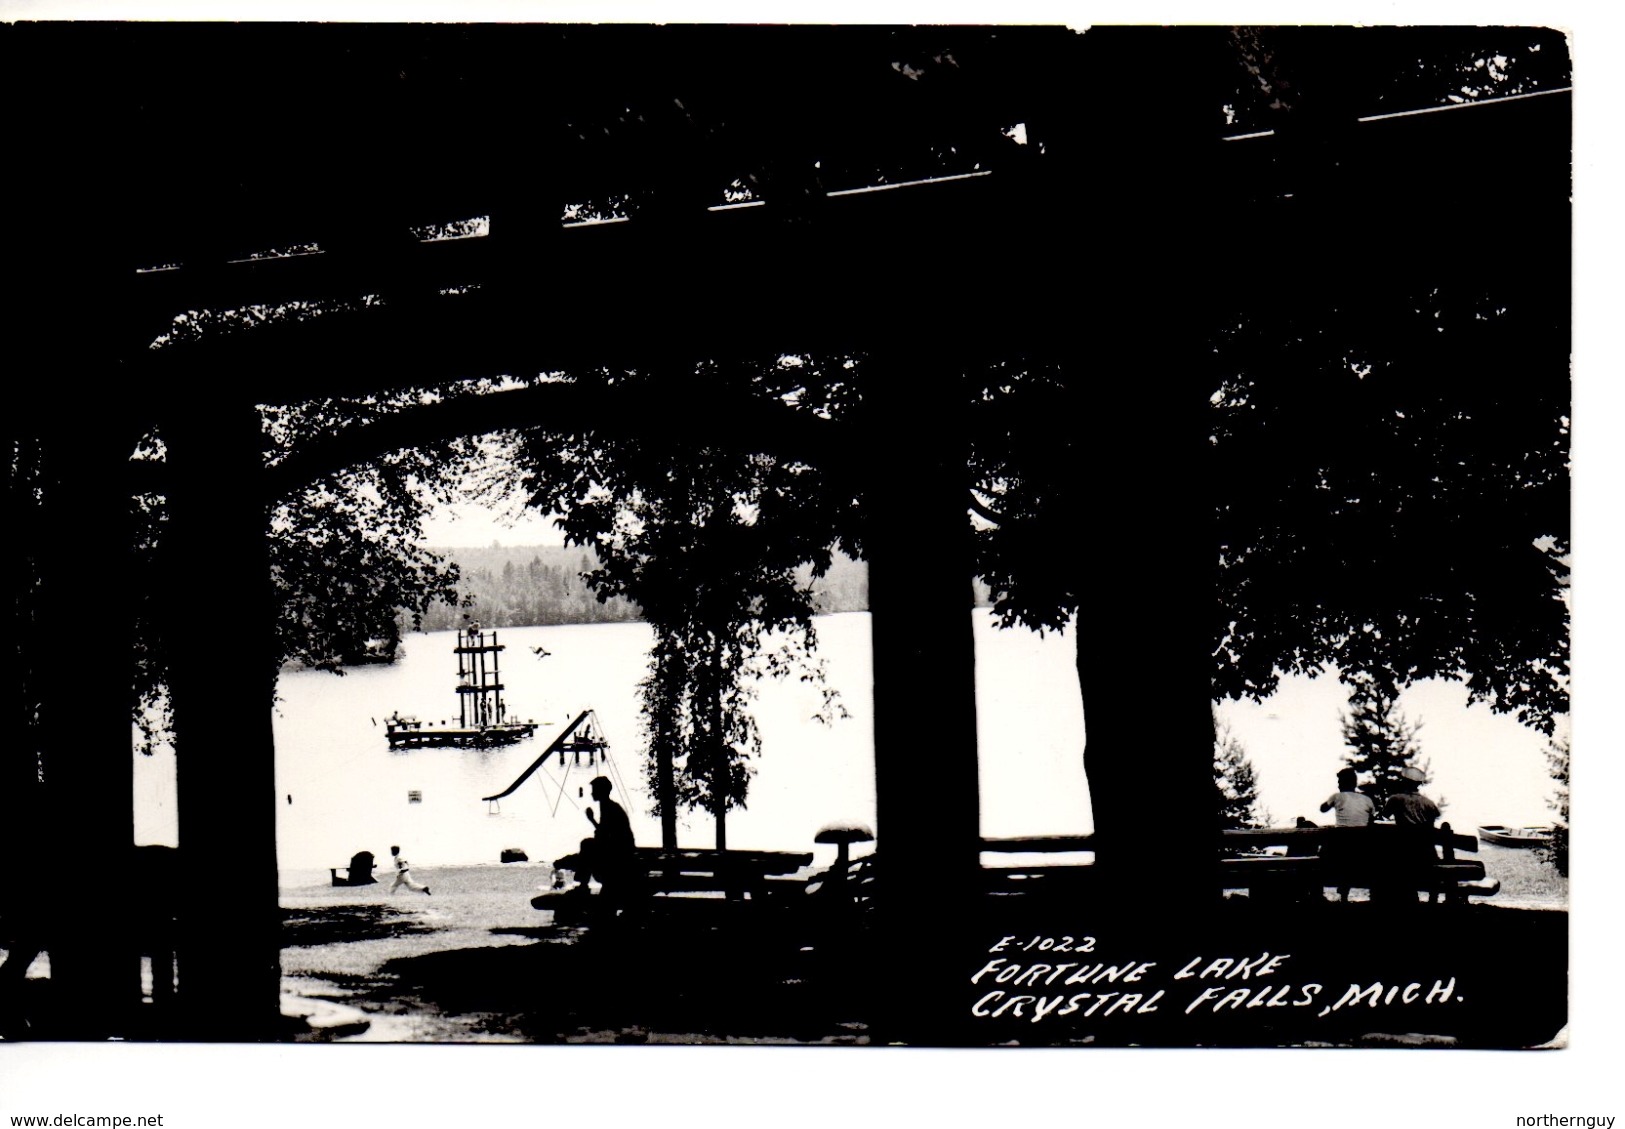
M 1102 960 L 1090 936 L 1004 936 L 970 976 L 982 989 L 970 1006 L 978 1019 L 1040 1023 L 1066 1015 L 1147 1015 L 1159 1010 L 1246 1012 L 1300 1007 L 1316 1019 L 1352 1007 L 1461 1002 L 1456 978 L 1407 983 L 1323 984 L 1292 976 L 1292 954 L 1191 957 L 1183 965 L 1155 960 Z M 1077 991 L 1084 989 L 1084 991 Z

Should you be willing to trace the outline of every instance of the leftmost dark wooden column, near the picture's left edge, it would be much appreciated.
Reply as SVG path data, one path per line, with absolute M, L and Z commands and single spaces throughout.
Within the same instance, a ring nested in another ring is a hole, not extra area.
M 117 429 L 54 421 L 23 541 L 37 586 L 18 622 L 29 658 L 20 882 L 44 913 L 47 1038 L 125 1035 L 140 1004 L 132 869 L 130 510 Z

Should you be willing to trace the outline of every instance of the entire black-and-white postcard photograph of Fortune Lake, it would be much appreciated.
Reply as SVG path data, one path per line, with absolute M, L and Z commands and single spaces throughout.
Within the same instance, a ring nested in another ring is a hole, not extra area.
M 0 24 L 0 1071 L 1201 1048 L 1495 1108 L 1588 1038 L 1571 749 L 1612 801 L 1575 60 Z

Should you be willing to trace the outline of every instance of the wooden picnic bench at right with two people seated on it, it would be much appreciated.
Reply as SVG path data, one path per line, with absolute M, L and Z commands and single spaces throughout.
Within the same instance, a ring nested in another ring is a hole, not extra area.
M 1461 903 L 1493 897 L 1502 885 L 1485 877 L 1484 863 L 1458 859 L 1477 853 L 1479 840 L 1458 835 L 1450 824 L 1410 832 L 1372 827 L 1269 827 L 1220 835 L 1227 851 L 1217 863 L 1219 885 L 1256 895 L 1321 897 L 1326 889 L 1404 890 Z M 1419 861 L 1417 853 L 1422 853 Z M 1269 853 L 1264 853 L 1269 851 Z M 1433 861 L 1425 861 L 1433 853 Z

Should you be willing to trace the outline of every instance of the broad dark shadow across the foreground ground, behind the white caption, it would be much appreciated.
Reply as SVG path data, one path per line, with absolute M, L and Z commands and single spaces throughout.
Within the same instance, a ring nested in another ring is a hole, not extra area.
M 392 960 L 372 991 L 536 1043 L 1531 1048 L 1566 1023 L 1560 911 L 996 898 L 887 947 L 738 910 L 504 929 L 535 944 Z

